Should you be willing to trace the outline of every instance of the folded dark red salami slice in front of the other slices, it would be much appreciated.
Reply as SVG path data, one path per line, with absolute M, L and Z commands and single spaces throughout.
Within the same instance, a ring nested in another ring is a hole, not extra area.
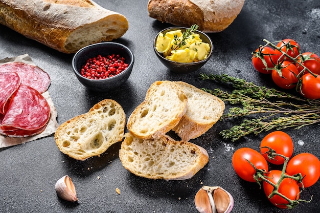
M 49 118 L 50 106 L 47 100 L 35 89 L 20 84 L 10 100 L 1 130 L 11 137 L 31 136 L 42 132 Z

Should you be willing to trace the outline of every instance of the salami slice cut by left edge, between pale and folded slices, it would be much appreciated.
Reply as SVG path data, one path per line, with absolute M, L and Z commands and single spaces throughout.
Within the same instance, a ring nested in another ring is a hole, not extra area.
M 0 72 L 0 114 L 6 113 L 6 103 L 20 86 L 20 78 L 16 72 Z

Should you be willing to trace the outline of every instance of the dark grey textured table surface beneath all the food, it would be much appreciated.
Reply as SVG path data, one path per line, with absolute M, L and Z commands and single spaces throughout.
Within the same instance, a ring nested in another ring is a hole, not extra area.
M 57 52 L 0 26 L 0 58 L 28 53 L 37 66 L 50 74 L 49 93 L 59 124 L 86 113 L 105 98 L 118 101 L 128 118 L 155 80 L 182 80 L 199 88 L 213 88 L 211 82 L 198 79 L 201 72 L 226 73 L 260 86 L 274 87 L 270 77 L 256 72 L 250 60 L 250 53 L 264 43 L 263 38 L 269 41 L 292 38 L 304 51 L 320 54 L 319 1 L 246 1 L 230 27 L 209 34 L 214 44 L 209 62 L 197 72 L 178 75 L 168 71 L 153 52 L 154 36 L 171 25 L 148 16 L 147 0 L 97 3 L 127 17 L 129 30 L 116 42 L 129 47 L 135 55 L 128 81 L 121 88 L 104 94 L 90 92 L 78 82 L 71 66 L 73 54 Z M 229 107 L 226 105 L 226 110 Z M 100 157 L 83 162 L 62 154 L 53 136 L 2 148 L 0 212 L 197 212 L 194 196 L 202 185 L 228 190 L 235 200 L 233 212 L 288 212 L 272 206 L 256 183 L 242 181 L 232 167 L 235 150 L 244 146 L 258 150 L 267 133 L 232 143 L 219 135 L 228 126 L 227 122 L 218 122 L 207 133 L 191 140 L 208 151 L 210 160 L 194 177 L 183 181 L 149 180 L 132 175 L 119 160 L 120 143 Z M 319 131 L 318 125 L 285 130 L 293 139 L 294 155 L 310 152 L 320 158 Z M 72 177 L 78 202 L 70 203 L 57 197 L 54 185 L 64 175 Z M 120 195 L 116 188 L 120 189 Z M 292 212 L 317 212 L 320 181 L 307 188 L 302 198 L 308 200 L 311 195 L 311 203 L 302 203 Z

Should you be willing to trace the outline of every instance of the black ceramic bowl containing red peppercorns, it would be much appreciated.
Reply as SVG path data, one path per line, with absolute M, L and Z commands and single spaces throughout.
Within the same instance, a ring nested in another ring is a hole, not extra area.
M 89 79 L 80 74 L 82 66 L 88 58 L 97 57 L 98 55 L 107 56 L 111 54 L 119 54 L 125 58 L 128 63 L 127 69 L 121 73 L 105 78 L 105 79 Z M 72 67 L 78 80 L 89 90 L 106 92 L 108 90 L 119 87 L 130 76 L 134 63 L 134 56 L 132 52 L 124 45 L 116 42 L 101 42 L 94 45 L 89 45 L 79 50 L 72 59 Z

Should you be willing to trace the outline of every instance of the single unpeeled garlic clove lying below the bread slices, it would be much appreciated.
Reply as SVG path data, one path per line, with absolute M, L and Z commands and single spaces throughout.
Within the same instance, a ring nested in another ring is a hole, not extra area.
M 56 182 L 55 189 L 57 195 L 63 200 L 72 202 L 78 200 L 75 185 L 67 175 L 63 176 Z

